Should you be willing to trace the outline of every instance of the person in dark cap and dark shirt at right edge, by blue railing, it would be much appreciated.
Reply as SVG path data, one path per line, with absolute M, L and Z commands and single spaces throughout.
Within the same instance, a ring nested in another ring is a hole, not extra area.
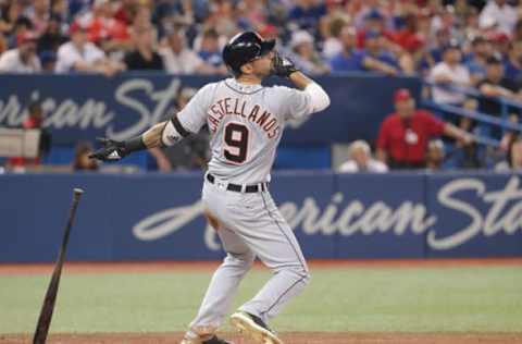
M 478 111 L 493 116 L 501 116 L 504 113 L 499 100 L 492 98 L 522 99 L 519 93 L 520 86 L 512 79 L 505 77 L 502 61 L 495 56 L 487 60 L 486 77 L 477 84 L 477 88 L 485 96 L 478 100 Z M 508 108 L 506 115 L 513 111 L 517 112 L 517 109 Z M 501 128 L 494 127 L 492 136 L 500 139 L 502 136 Z

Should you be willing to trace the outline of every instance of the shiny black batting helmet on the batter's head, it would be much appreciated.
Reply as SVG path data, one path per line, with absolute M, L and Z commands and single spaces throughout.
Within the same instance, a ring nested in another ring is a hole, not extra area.
M 262 57 L 274 49 L 275 40 L 264 40 L 258 33 L 237 34 L 223 49 L 223 61 L 235 73 L 241 72 L 241 65 Z

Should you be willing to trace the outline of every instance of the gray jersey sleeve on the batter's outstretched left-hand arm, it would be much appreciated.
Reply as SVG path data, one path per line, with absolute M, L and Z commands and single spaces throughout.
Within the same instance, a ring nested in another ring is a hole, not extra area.
M 209 84 L 200 88 L 185 108 L 177 113 L 179 124 L 185 131 L 196 134 L 207 122 L 207 110 L 212 99 L 213 85 Z

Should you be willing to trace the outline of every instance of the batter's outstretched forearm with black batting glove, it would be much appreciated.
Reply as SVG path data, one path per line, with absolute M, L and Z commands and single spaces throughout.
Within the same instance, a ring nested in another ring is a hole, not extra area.
M 189 134 L 190 133 L 188 133 L 179 123 L 177 114 L 175 114 L 170 121 L 154 124 L 141 135 L 128 140 L 119 142 L 108 138 L 99 138 L 98 140 L 103 147 L 91 153 L 89 158 L 102 161 L 120 160 L 133 151 L 172 146 Z

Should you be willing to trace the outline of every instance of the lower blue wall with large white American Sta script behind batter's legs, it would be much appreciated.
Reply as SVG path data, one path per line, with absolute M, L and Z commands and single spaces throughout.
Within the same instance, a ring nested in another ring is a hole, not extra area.
M 271 192 L 309 258 L 522 256 L 521 174 L 279 172 Z M 73 187 L 76 261 L 213 260 L 202 175 L 0 175 L 0 262 L 52 261 Z

